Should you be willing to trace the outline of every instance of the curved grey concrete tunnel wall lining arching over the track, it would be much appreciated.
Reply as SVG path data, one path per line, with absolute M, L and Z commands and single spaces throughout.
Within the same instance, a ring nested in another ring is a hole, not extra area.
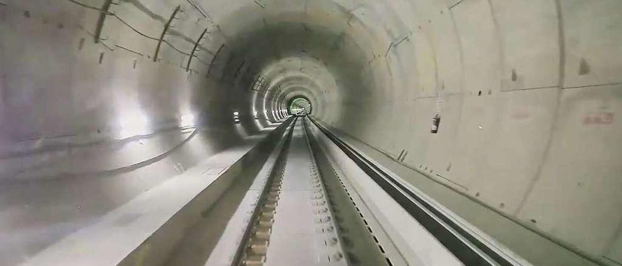
M 100 181 L 110 191 L 95 196 L 106 199 L 95 219 L 305 96 L 328 126 L 622 263 L 620 11 L 616 0 L 0 0 L 3 190 L 29 181 L 27 200 L 49 193 L 32 185 L 42 179 L 65 180 L 58 192 L 106 173 L 116 181 Z M 138 172 L 113 171 L 124 167 Z M 127 181 L 140 171 L 159 178 Z M 14 205 L 16 221 L 34 215 Z

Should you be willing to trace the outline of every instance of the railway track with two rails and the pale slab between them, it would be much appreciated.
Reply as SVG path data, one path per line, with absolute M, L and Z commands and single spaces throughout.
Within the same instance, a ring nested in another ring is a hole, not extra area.
M 391 265 L 306 119 L 294 122 L 234 265 Z

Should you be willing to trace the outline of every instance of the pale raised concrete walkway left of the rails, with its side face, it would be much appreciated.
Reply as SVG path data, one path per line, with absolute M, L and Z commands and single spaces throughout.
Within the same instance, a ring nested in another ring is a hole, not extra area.
M 233 147 L 142 193 L 100 221 L 50 245 L 21 265 L 153 265 L 179 244 L 183 231 L 243 171 L 247 160 L 267 156 L 266 139 Z M 278 136 L 277 136 L 278 135 Z M 269 153 L 268 153 L 269 154 Z

